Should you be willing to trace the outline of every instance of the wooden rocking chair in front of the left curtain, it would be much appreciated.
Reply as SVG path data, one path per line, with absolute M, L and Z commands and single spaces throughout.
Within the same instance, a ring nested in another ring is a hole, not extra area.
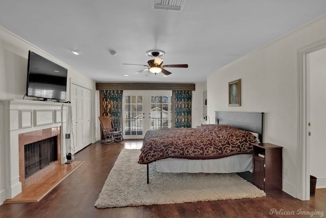
M 102 142 L 110 144 L 124 140 L 122 137 L 121 126 L 114 126 L 111 117 L 98 117 L 98 119 L 100 120 L 104 138 Z

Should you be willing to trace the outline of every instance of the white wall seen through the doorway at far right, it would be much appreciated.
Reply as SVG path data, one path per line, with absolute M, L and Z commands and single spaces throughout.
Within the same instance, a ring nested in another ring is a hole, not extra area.
M 326 187 L 326 48 L 309 53 L 310 77 L 310 174 L 317 177 L 317 188 Z

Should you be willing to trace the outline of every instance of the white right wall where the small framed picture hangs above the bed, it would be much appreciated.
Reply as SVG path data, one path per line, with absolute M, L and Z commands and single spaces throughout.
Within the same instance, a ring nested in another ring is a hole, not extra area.
M 283 146 L 283 190 L 297 196 L 298 48 L 326 37 L 326 16 L 207 77 L 208 116 L 214 111 L 264 112 L 263 142 Z M 241 79 L 241 106 L 228 106 L 228 83 Z M 287 172 L 287 175 L 285 175 Z

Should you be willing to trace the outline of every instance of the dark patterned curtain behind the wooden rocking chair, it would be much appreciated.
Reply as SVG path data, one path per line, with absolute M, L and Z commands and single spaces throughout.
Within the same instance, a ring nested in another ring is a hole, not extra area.
M 115 126 L 121 126 L 122 90 L 100 90 L 100 115 L 111 115 Z

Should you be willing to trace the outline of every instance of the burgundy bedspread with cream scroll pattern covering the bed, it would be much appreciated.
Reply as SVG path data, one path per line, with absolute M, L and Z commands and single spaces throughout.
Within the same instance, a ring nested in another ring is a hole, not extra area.
M 145 134 L 138 162 L 146 164 L 168 157 L 217 159 L 251 153 L 256 143 L 252 133 L 225 125 L 154 129 Z

